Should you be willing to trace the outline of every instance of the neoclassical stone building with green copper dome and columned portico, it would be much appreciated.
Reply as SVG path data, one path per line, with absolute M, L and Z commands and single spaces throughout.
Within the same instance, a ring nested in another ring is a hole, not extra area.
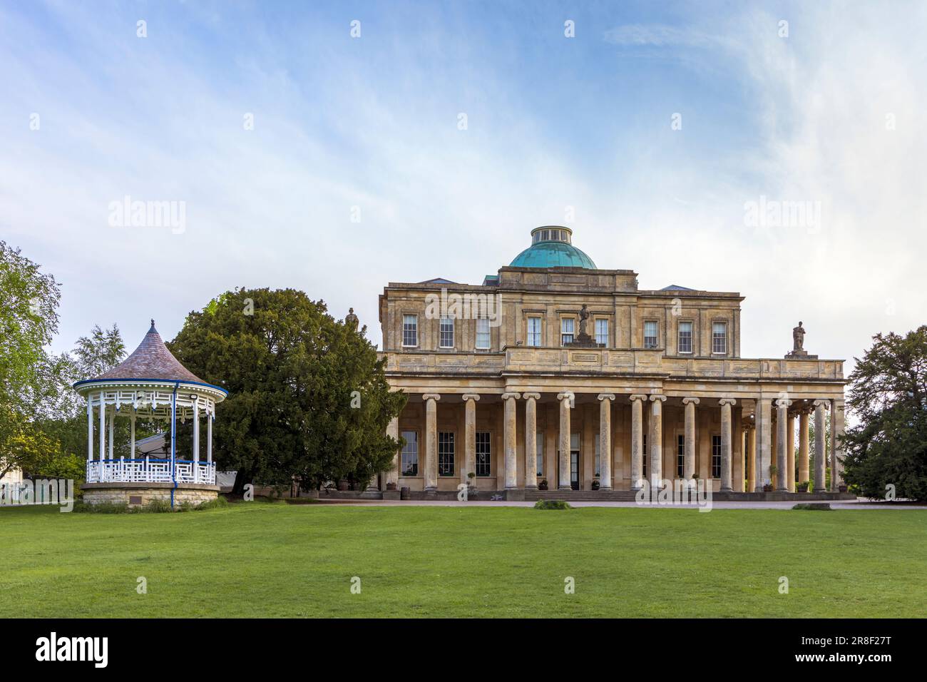
M 405 444 L 383 483 L 450 492 L 473 472 L 480 491 L 510 496 L 693 477 L 717 492 L 805 481 L 823 492 L 830 452 L 837 490 L 843 360 L 806 354 L 800 323 L 791 353 L 744 358 L 740 293 L 642 290 L 637 273 L 597 267 L 572 239 L 538 227 L 480 285 L 387 285 L 381 355 L 409 402 L 390 425 Z M 809 419 L 826 411 L 831 446 L 823 428 L 809 444 Z

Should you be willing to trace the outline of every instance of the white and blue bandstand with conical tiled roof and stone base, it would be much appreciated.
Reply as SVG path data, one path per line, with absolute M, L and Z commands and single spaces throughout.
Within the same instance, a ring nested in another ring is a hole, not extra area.
M 145 338 L 119 366 L 95 379 L 81 380 L 74 390 L 87 401 L 87 472 L 83 500 L 87 504 L 145 506 L 164 500 L 171 507 L 199 504 L 219 495 L 212 460 L 212 424 L 216 405 L 228 394 L 178 362 L 164 345 L 151 320 Z M 129 457 L 114 454 L 116 418 L 130 420 Z M 135 422 L 168 423 L 171 447 L 167 457 L 137 457 Z M 201 422 L 206 423 L 206 452 Z M 177 423 L 193 421 L 192 452 L 177 452 Z M 94 438 L 94 426 L 96 439 Z

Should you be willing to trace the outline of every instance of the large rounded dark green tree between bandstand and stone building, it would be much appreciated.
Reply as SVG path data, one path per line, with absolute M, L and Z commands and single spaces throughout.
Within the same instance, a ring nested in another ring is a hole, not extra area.
M 386 434 L 405 404 L 390 392 L 366 328 L 328 315 L 298 290 L 227 291 L 187 315 L 171 352 L 228 390 L 214 456 L 246 483 L 303 489 L 387 470 L 399 444 Z

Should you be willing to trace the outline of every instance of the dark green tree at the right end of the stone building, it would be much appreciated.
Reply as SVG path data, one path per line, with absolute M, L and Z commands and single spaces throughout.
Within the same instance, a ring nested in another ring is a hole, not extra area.
M 849 379 L 844 479 L 862 495 L 927 499 L 927 326 L 872 338 Z

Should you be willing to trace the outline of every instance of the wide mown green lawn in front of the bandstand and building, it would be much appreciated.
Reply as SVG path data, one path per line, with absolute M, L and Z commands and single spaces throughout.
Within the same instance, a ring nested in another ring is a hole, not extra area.
M 0 538 L 0 617 L 927 612 L 919 510 L 0 508 Z

